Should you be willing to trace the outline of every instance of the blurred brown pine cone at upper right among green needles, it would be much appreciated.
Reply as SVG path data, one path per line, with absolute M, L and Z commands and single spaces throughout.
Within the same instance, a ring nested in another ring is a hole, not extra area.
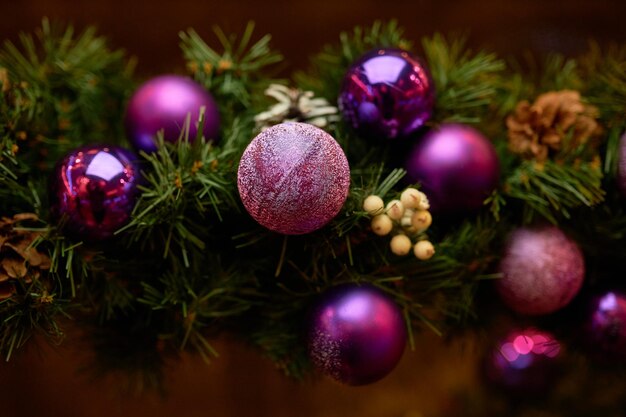
M 573 90 L 551 91 L 531 105 L 520 102 L 506 119 L 509 149 L 526 159 L 545 161 L 550 154 L 575 150 L 602 133 L 598 110 L 580 100 Z

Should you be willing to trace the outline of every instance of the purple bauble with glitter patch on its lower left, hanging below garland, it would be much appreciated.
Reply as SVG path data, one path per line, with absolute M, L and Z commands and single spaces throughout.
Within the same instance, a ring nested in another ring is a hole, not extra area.
M 391 372 L 407 339 L 402 311 L 371 285 L 345 284 L 323 294 L 308 326 L 315 367 L 349 385 L 369 384 Z

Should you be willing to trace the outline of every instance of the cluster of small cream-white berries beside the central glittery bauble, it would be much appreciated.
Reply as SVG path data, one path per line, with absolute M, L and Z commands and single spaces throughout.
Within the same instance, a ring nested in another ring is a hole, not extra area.
M 387 204 L 377 195 L 370 195 L 363 201 L 363 210 L 372 216 L 372 231 L 379 236 L 391 238 L 391 251 L 399 256 L 407 255 L 411 248 L 413 254 L 421 260 L 430 259 L 435 248 L 428 240 L 421 239 L 413 244 L 413 239 L 430 227 L 433 218 L 428 211 L 430 204 L 426 194 L 407 188 L 399 200 L 391 200 Z

